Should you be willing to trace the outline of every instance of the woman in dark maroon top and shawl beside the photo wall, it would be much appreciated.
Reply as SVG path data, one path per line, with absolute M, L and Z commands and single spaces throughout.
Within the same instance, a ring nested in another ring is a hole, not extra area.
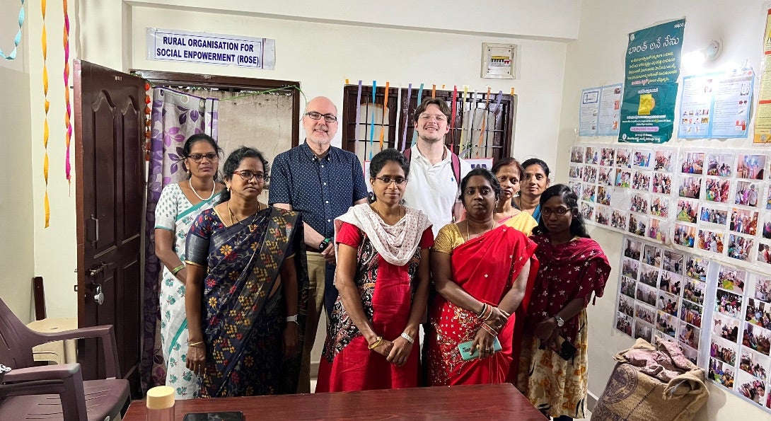
M 531 238 L 541 266 L 525 318 L 517 388 L 547 416 L 584 418 L 586 307 L 592 293 L 602 296 L 611 266 L 587 234 L 570 187 L 547 188 L 540 214 Z

